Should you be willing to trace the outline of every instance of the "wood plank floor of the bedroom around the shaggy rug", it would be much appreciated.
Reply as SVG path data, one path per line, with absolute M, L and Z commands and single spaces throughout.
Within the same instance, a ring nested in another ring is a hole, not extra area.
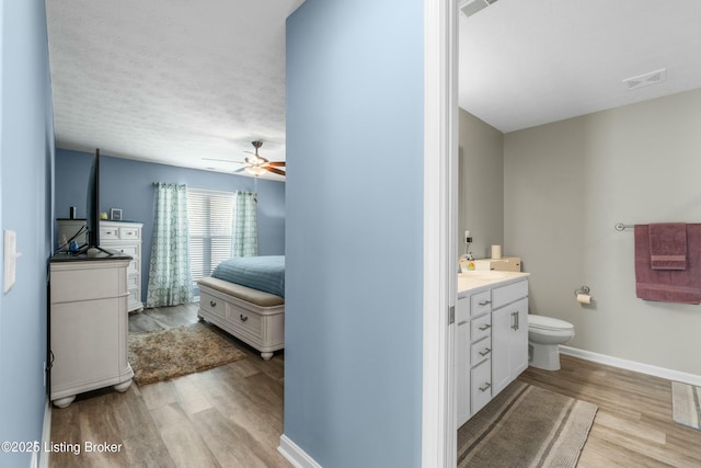
M 197 306 L 147 309 L 129 316 L 129 332 L 197 320 Z M 55 452 L 49 467 L 291 467 L 277 452 L 283 433 L 284 354 L 241 361 L 125 393 L 83 393 L 51 410 L 53 444 L 77 444 L 80 455 Z M 122 444 L 85 453 L 85 442 Z M 60 449 L 60 447 L 59 447 Z

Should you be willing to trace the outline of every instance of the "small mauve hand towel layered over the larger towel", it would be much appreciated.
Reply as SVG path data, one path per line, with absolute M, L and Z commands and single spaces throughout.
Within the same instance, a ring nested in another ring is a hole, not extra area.
M 650 260 L 653 270 L 687 267 L 687 225 L 683 222 L 650 225 Z

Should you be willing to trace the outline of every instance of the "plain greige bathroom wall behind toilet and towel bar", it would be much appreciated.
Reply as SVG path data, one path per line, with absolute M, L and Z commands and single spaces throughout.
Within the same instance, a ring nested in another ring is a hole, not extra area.
M 613 229 L 701 222 L 700 123 L 696 90 L 505 135 L 504 242 L 531 311 L 574 323 L 568 345 L 701 375 L 701 306 L 637 299 L 632 229 Z

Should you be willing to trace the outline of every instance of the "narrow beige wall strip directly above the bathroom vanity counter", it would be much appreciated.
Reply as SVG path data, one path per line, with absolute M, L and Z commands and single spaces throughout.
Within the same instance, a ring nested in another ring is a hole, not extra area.
M 461 109 L 459 151 L 458 253 L 469 230 L 474 258 L 490 258 L 493 244 L 504 244 L 504 135 Z M 503 252 L 518 254 L 510 246 Z

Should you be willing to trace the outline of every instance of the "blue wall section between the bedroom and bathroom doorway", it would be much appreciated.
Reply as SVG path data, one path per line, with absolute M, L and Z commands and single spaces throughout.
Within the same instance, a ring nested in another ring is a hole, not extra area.
M 325 468 L 421 465 L 423 9 L 287 22 L 285 435 Z

